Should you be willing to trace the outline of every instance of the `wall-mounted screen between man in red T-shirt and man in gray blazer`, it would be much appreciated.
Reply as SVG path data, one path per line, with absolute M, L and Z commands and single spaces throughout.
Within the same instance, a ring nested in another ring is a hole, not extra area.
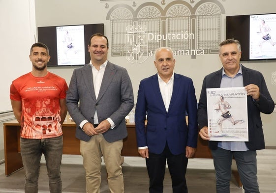
M 50 50 L 47 66 L 80 66 L 89 63 L 88 41 L 93 33 L 104 34 L 103 24 L 38 27 L 38 42 Z

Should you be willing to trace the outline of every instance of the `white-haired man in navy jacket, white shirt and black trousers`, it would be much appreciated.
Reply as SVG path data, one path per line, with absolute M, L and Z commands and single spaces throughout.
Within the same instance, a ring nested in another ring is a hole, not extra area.
M 174 73 L 175 59 L 170 48 L 158 48 L 154 64 L 157 74 L 142 80 L 138 90 L 135 109 L 138 151 L 146 158 L 150 193 L 163 192 L 166 161 L 173 193 L 187 193 L 186 167 L 197 144 L 195 89 L 190 78 Z

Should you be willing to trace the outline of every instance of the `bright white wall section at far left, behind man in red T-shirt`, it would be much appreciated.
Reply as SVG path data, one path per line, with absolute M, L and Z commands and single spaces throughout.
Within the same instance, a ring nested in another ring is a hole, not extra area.
M 35 42 L 34 0 L 0 0 L 0 112 L 11 110 L 9 87 L 31 71 L 30 47 Z

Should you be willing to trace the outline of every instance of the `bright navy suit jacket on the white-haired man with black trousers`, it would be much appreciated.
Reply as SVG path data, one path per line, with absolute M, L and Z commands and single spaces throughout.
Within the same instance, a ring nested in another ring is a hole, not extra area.
M 185 112 L 188 113 L 188 125 Z M 166 142 L 174 155 L 185 153 L 186 146 L 196 147 L 197 105 L 192 80 L 174 74 L 168 112 L 162 100 L 157 74 L 142 80 L 135 109 L 135 125 L 138 147 L 148 146 L 151 153 L 162 153 Z

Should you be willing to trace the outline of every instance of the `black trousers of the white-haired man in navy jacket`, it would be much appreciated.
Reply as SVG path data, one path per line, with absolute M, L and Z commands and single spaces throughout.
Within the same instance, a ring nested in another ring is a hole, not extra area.
M 173 155 L 167 144 L 161 154 L 149 152 L 149 159 L 146 158 L 150 177 L 150 193 L 163 193 L 166 161 L 172 179 L 173 193 L 188 193 L 185 178 L 188 159 L 185 157 L 185 153 Z

